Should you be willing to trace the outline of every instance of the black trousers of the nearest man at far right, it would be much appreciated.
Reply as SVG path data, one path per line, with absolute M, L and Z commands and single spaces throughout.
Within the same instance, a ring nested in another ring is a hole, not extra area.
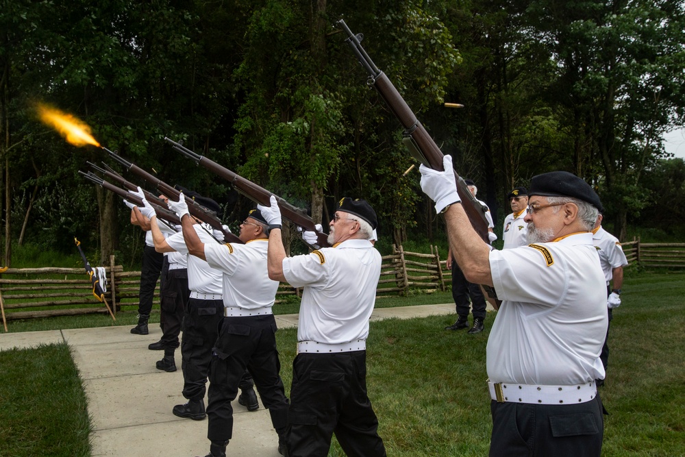
M 599 457 L 604 435 L 599 392 L 581 404 L 490 403 L 490 457 Z

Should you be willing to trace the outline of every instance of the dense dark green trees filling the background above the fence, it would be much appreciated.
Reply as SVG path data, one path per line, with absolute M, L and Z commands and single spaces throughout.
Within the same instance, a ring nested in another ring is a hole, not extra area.
M 214 197 L 226 221 L 251 203 L 164 136 L 324 225 L 349 195 L 371 201 L 382 237 L 435 236 L 418 173 L 403 175 L 414 161 L 399 123 L 367 88 L 341 17 L 496 220 L 512 186 L 554 169 L 596 186 L 617 235 L 681 220 L 684 164 L 662 146 L 685 119 L 680 0 L 0 4 L 5 264 L 12 240 L 71 250 L 78 236 L 106 258 L 131 255 L 140 238 L 120 199 L 77 173 L 86 161 L 121 169 L 38 122 L 36 103 L 75 114 L 165 182 Z

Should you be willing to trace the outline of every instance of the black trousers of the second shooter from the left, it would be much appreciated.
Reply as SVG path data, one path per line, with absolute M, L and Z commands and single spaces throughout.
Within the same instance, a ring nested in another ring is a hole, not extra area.
M 164 349 L 179 347 L 178 336 L 181 333 L 189 297 L 188 270 L 167 271 L 160 291 L 160 327 L 162 328 L 162 339 L 160 341 Z

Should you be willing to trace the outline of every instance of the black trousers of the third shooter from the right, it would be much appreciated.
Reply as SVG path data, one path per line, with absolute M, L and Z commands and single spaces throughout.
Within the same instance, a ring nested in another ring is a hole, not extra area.
M 245 370 L 251 373 L 271 423 L 282 434 L 288 425 L 288 399 L 281 380 L 273 314 L 225 317 L 213 349 L 207 415 L 207 437 L 227 441 L 233 436 L 233 407 Z

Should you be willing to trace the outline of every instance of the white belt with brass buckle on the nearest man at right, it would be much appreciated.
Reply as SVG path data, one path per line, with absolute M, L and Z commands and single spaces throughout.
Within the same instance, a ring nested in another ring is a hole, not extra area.
M 595 382 L 573 386 L 536 386 L 515 382 L 490 382 L 490 398 L 498 403 L 530 403 L 543 405 L 589 402 L 597 396 Z

